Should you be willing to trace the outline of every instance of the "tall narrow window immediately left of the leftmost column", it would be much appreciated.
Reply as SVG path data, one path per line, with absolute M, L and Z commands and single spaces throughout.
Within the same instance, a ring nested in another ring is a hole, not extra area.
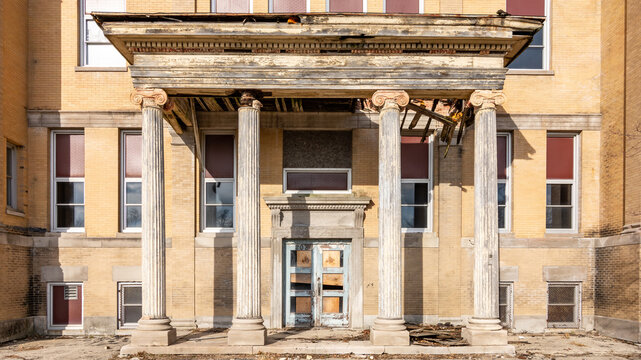
M 123 131 L 120 161 L 120 223 L 122 231 L 142 228 L 142 135 Z

